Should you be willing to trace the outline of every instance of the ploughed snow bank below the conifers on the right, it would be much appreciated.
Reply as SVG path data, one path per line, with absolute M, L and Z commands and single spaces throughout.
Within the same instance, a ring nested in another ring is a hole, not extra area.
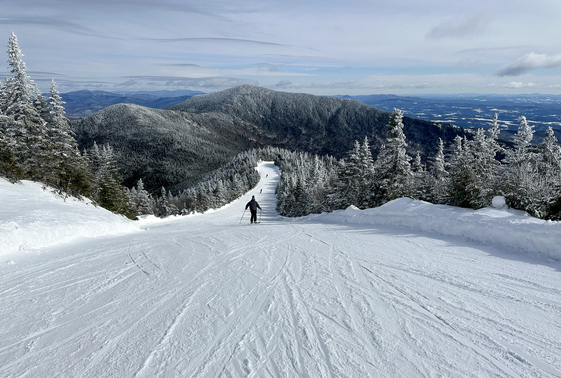
M 404 197 L 379 208 L 360 210 L 349 206 L 346 210 L 313 214 L 306 218 L 337 223 L 394 225 L 462 236 L 531 253 L 546 253 L 551 259 L 561 260 L 561 222 L 512 214 L 502 209 L 470 210 Z

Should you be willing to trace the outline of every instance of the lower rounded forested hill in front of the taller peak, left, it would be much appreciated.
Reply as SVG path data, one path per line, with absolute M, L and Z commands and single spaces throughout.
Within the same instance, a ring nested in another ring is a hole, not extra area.
M 117 104 L 72 122 L 81 147 L 94 141 L 116 147 L 124 183 L 140 178 L 150 192 L 179 190 L 228 163 L 242 151 L 263 145 L 248 127 L 223 114 L 193 114 Z

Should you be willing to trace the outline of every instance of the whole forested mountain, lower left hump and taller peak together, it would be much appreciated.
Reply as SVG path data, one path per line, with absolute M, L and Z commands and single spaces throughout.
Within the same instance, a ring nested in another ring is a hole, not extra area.
M 125 185 L 177 192 L 254 147 L 275 146 L 342 158 L 365 136 L 379 149 L 389 113 L 355 100 L 240 85 L 196 95 L 168 109 L 117 104 L 72 122 L 82 148 L 116 147 Z M 466 130 L 404 117 L 411 155 L 434 155 Z M 468 131 L 471 132 L 471 131 Z

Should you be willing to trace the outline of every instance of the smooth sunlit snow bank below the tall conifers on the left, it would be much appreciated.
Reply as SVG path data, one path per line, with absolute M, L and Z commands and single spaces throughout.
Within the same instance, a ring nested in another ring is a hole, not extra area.
M 0 255 L 38 248 L 77 237 L 139 231 L 142 223 L 78 201 L 54 195 L 33 181 L 11 184 L 0 178 Z M 155 218 L 155 217 L 154 217 Z

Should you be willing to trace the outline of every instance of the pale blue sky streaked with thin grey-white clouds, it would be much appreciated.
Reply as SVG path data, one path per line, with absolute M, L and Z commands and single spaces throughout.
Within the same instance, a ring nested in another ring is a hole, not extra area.
M 561 94 L 558 0 L 0 0 L 61 92 Z

